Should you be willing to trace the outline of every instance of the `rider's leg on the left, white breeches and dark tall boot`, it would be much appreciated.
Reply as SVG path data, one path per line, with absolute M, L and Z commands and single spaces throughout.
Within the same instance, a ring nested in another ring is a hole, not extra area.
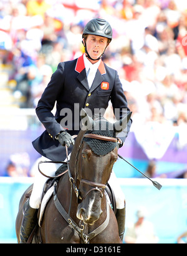
M 50 160 L 42 156 L 41 161 Z M 61 164 L 55 163 L 42 163 L 40 165 L 40 169 L 46 175 L 54 176 L 57 168 L 59 168 L 60 165 Z M 32 230 L 34 229 L 37 223 L 37 210 L 41 204 L 42 192 L 47 180 L 47 177 L 44 177 L 40 172 L 36 172 L 31 197 L 29 198 L 29 200 L 27 200 L 27 202 L 24 205 L 24 215 L 22 218 L 20 233 L 21 243 L 27 242 L 29 236 L 31 235 Z

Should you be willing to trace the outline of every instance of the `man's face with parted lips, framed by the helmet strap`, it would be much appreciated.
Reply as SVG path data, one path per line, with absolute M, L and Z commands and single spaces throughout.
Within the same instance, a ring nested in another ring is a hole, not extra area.
M 103 36 L 94 36 L 89 34 L 86 39 L 87 51 L 92 59 L 98 59 L 108 44 L 108 39 L 103 38 Z M 89 59 L 91 63 L 96 63 L 97 61 L 92 61 Z

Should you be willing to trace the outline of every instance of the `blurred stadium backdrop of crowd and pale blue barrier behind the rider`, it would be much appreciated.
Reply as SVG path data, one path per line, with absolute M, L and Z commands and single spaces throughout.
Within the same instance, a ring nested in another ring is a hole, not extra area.
M 118 70 L 133 111 L 120 155 L 158 180 L 160 191 L 123 160 L 115 173 L 127 199 L 127 225 L 146 207 L 158 243 L 187 231 L 187 3 L 182 0 L 1 0 L 0 243 L 16 243 L 19 199 L 40 155 L 44 128 L 35 108 L 60 61 L 84 53 L 82 29 L 107 19 L 113 40 L 103 60 Z M 112 117 L 110 106 L 108 118 Z

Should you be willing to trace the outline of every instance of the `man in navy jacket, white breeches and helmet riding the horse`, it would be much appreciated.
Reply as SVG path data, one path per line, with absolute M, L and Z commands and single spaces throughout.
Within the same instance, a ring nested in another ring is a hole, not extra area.
M 86 24 L 82 35 L 85 53 L 78 59 L 59 63 L 57 70 L 52 74 L 36 108 L 37 116 L 46 131 L 32 142 L 34 148 L 41 153 L 45 160 L 46 158 L 52 161 L 64 160 L 66 158 L 65 145 L 69 147 L 69 152 L 72 150 L 74 145 L 72 135 L 79 133 L 82 108 L 88 113 L 89 110 L 92 113 L 96 109 L 106 110 L 108 101 L 111 100 L 114 113 L 115 109 L 120 110 L 115 115 L 117 120 L 130 112 L 117 71 L 109 68 L 101 59 L 111 41 L 112 28 L 110 24 L 104 19 L 92 19 Z M 52 110 L 55 103 L 56 113 L 54 116 Z M 72 115 L 69 115 L 70 113 Z M 65 126 L 66 124 L 67 126 Z M 132 120 L 128 121 L 125 135 L 118 140 L 119 147 L 123 145 L 131 124 Z M 49 163 L 44 172 L 54 176 L 58 167 L 58 164 Z M 27 242 L 37 223 L 37 209 L 41 203 L 42 190 L 46 180 L 47 178 L 41 173 L 36 173 L 31 197 L 24 205 L 21 243 Z M 123 239 L 125 197 L 113 172 L 109 183 L 115 193 L 119 234 Z

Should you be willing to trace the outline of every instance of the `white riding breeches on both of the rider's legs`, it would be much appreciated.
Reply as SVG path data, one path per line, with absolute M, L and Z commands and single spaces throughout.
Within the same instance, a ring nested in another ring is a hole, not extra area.
M 41 161 L 50 161 L 46 157 L 42 156 Z M 40 170 L 45 173 L 47 176 L 55 176 L 56 170 L 62 165 L 61 163 L 41 163 Z M 32 188 L 31 197 L 29 200 L 29 204 L 32 208 L 38 209 L 41 204 L 41 197 L 45 183 L 48 178 L 44 177 L 39 171 L 36 172 L 34 177 L 34 185 Z M 112 172 L 110 179 L 108 181 L 110 187 L 113 189 L 113 193 L 115 194 L 116 204 L 118 209 L 124 208 L 125 196 L 123 195 L 122 189 L 118 184 L 117 177 L 115 173 Z

